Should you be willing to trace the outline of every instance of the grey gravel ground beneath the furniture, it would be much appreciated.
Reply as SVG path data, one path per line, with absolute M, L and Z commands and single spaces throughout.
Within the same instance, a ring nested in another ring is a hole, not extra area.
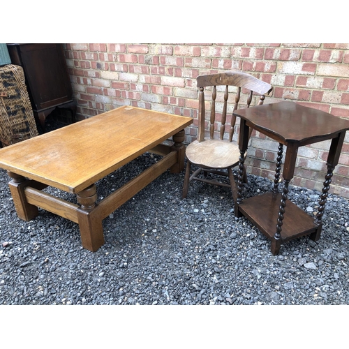
M 98 198 L 159 158 L 144 154 L 105 177 Z M 183 180 L 165 172 L 105 218 L 105 244 L 92 253 L 73 222 L 43 210 L 17 218 L 0 170 L 0 304 L 349 304 L 348 200 L 329 194 L 321 239 L 295 239 L 274 256 L 252 223 L 235 218 L 228 188 L 194 181 L 182 199 Z M 272 187 L 248 181 L 245 198 Z M 291 185 L 288 198 L 313 215 L 318 195 Z

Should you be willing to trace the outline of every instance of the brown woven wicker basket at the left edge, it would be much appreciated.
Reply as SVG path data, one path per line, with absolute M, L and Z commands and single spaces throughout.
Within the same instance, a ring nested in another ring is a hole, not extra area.
M 3 146 L 38 135 L 23 68 L 0 67 L 0 141 Z

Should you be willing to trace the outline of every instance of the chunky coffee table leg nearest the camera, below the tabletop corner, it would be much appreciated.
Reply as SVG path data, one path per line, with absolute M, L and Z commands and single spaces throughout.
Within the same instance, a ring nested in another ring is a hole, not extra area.
M 96 200 L 95 184 L 77 193 L 77 202 L 81 205 L 77 209 L 77 220 L 82 247 L 93 252 L 104 244 L 102 218 L 96 209 Z

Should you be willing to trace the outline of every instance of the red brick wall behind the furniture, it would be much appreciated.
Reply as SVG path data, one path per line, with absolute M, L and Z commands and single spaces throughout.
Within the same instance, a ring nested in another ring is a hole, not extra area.
M 197 119 L 200 74 L 238 68 L 274 87 L 265 103 L 283 100 L 349 118 L 349 44 L 66 44 L 77 119 L 120 105 Z M 197 123 L 186 130 L 195 139 Z M 278 144 L 256 134 L 248 171 L 274 178 Z M 322 189 L 329 142 L 299 149 L 292 184 Z M 311 170 L 309 170 L 311 169 Z M 349 198 L 349 133 L 332 178 L 332 193 Z

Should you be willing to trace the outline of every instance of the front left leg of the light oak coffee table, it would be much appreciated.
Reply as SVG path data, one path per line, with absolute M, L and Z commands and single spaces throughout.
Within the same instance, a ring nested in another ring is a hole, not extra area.
M 25 198 L 24 188 L 28 186 L 30 181 L 29 179 L 20 176 L 20 174 L 10 171 L 7 173 L 12 178 L 12 180 L 8 183 L 8 186 L 10 187 L 17 216 L 20 219 L 23 219 L 23 221 L 31 221 L 31 219 L 38 216 L 38 207 L 29 204 Z

